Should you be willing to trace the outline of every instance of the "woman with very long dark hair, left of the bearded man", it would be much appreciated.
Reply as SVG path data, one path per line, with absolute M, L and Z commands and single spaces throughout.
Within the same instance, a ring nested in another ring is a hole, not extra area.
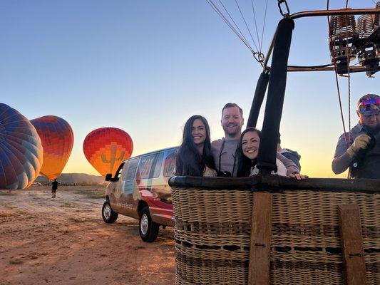
M 185 123 L 175 161 L 175 175 L 217 175 L 211 152 L 210 127 L 201 115 L 193 115 Z

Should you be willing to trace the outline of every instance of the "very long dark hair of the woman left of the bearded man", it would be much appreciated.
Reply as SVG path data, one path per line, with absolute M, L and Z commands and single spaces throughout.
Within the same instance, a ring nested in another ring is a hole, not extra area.
M 202 155 L 197 150 L 191 135 L 192 124 L 197 119 L 202 120 L 206 129 Z M 175 173 L 183 176 L 202 176 L 206 166 L 215 170 L 214 157 L 212 157 L 211 152 L 210 127 L 207 120 L 201 115 L 193 115 L 183 128 L 183 140 L 175 160 Z

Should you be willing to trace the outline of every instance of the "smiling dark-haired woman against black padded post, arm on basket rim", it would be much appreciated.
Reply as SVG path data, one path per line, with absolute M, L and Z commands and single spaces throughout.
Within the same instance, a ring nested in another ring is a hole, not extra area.
M 257 154 L 259 153 L 261 132 L 256 128 L 247 128 L 240 137 L 239 145 L 237 146 L 237 157 L 239 165 L 237 166 L 237 177 L 246 177 L 258 174 L 257 169 Z M 277 174 L 281 176 L 292 177 L 297 180 L 305 179 L 299 173 L 299 168 L 292 160 L 287 159 L 284 155 L 277 152 L 276 158 Z

